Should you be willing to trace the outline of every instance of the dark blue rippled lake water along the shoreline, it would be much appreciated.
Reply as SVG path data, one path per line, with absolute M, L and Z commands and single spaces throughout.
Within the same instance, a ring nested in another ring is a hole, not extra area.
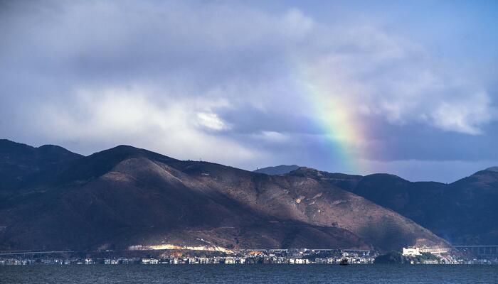
M 498 283 L 498 266 L 0 266 L 0 283 Z

